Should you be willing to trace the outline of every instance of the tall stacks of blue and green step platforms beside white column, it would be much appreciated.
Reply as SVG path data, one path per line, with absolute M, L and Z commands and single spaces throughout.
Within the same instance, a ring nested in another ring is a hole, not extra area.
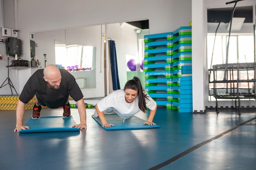
M 144 36 L 145 91 L 158 106 L 192 112 L 191 27 Z

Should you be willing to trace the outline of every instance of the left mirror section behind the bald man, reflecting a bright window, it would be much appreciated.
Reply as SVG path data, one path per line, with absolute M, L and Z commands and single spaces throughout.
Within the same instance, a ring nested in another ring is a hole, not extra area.
M 35 57 L 40 61 L 41 68 L 56 64 L 70 71 L 81 89 L 96 88 L 96 55 L 101 55 L 100 25 L 33 34 Z M 32 67 L 31 74 L 36 69 Z

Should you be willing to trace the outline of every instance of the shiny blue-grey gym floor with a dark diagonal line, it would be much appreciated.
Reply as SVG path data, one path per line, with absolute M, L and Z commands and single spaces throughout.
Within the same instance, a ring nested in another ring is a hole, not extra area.
M 256 112 L 206 114 L 158 108 L 160 128 L 104 130 L 87 108 L 80 132 L 19 134 L 15 110 L 0 110 L 0 170 L 252 170 L 256 160 Z M 25 111 L 24 124 L 32 110 Z M 42 108 L 41 117 L 63 109 Z M 76 108 L 71 114 L 79 123 Z M 148 114 L 137 117 L 147 119 Z

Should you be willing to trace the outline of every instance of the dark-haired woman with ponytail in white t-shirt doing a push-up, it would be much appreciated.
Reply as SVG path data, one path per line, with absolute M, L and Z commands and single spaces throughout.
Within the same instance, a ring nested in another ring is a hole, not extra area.
M 144 124 L 156 125 L 153 118 L 157 110 L 157 104 L 147 92 L 143 91 L 138 77 L 128 80 L 124 89 L 113 91 L 101 99 L 95 108 L 94 117 L 99 117 L 103 127 L 115 126 L 107 122 L 104 113 L 116 113 L 120 117 L 128 119 L 140 111 L 146 113 L 147 108 L 150 112 L 148 120 Z

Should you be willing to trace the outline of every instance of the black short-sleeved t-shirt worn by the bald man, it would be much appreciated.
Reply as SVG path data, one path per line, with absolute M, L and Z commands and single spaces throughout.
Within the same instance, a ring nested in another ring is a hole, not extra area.
M 20 101 L 28 103 L 30 99 L 36 95 L 38 102 L 49 108 L 59 108 L 65 106 L 69 95 L 78 101 L 83 98 L 83 93 L 73 75 L 71 75 L 65 69 L 61 71 L 61 84 L 59 89 L 50 89 L 47 86 L 47 82 L 43 78 L 43 69 L 37 70 L 27 83 L 25 84 L 21 94 Z

